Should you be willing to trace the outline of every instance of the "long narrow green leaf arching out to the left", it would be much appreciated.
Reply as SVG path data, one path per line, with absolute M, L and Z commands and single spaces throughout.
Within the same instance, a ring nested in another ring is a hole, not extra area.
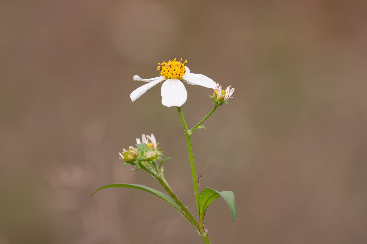
M 138 184 L 110 184 L 110 185 L 105 185 L 105 186 L 102 186 L 102 187 L 98 188 L 97 190 L 95 190 L 92 193 L 91 196 L 93 196 L 94 193 L 96 193 L 96 192 L 98 192 L 102 189 L 112 188 L 112 187 L 134 188 L 134 189 L 139 189 L 139 190 L 143 190 L 143 191 L 146 191 L 146 192 L 150 192 L 150 193 L 156 195 L 157 197 L 160 197 L 161 199 L 163 199 L 167 203 L 169 203 L 172 207 L 174 207 L 191 224 L 188 217 L 186 217 L 186 215 L 182 212 L 182 210 L 180 209 L 178 204 L 170 196 L 168 196 L 167 194 L 164 194 L 163 192 L 157 191 L 156 189 L 150 188 L 149 186 L 138 185 Z

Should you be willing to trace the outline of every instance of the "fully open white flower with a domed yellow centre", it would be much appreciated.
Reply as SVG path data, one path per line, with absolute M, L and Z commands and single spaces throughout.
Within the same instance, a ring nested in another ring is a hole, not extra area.
M 186 81 L 189 85 L 200 85 L 207 88 L 215 88 L 215 81 L 202 74 L 190 73 L 186 67 L 187 60 L 182 63 L 182 59 L 177 61 L 168 60 L 168 62 L 158 63 L 157 70 L 160 70 L 159 77 L 142 79 L 139 75 L 134 75 L 134 81 L 145 81 L 148 84 L 142 85 L 130 94 L 131 101 L 135 101 L 147 90 L 163 82 L 161 88 L 162 104 L 167 107 L 180 107 L 187 99 L 187 91 L 181 81 Z

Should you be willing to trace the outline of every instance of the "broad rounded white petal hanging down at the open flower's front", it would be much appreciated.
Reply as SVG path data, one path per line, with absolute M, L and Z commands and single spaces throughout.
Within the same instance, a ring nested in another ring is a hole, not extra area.
M 185 86 L 177 79 L 163 82 L 161 89 L 162 104 L 167 107 L 180 107 L 187 99 Z

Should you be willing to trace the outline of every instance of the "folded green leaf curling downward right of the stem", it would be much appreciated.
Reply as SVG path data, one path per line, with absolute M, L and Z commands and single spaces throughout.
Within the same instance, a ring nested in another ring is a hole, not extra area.
M 218 192 L 211 188 L 204 188 L 203 192 L 199 195 L 199 208 L 200 208 L 200 216 L 199 216 L 199 222 L 204 221 L 204 215 L 209 207 L 209 205 L 218 197 L 223 197 L 223 199 L 228 204 L 229 210 L 232 214 L 233 221 L 236 220 L 236 204 L 235 204 L 235 195 L 232 191 L 224 191 L 224 192 Z

